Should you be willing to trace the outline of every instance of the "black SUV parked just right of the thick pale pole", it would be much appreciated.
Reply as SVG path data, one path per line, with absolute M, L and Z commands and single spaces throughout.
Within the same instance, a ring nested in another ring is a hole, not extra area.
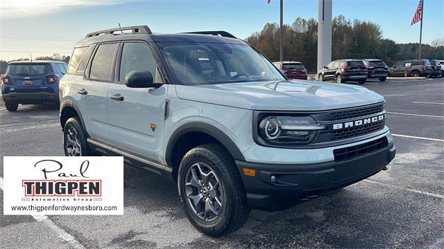
M 364 84 L 367 79 L 366 65 L 358 59 L 338 59 L 319 71 L 318 80 L 336 80 L 338 83 L 357 81 Z

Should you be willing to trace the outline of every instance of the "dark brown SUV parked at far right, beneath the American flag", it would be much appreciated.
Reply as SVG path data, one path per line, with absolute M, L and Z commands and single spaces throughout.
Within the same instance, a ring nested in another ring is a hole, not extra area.
M 388 73 L 390 76 L 429 77 L 432 73 L 432 65 L 428 59 L 412 59 L 396 62 L 388 68 Z

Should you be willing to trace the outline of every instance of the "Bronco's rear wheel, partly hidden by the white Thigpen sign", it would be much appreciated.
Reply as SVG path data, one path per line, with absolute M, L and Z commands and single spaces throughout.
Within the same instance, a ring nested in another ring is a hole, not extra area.
M 69 118 L 63 128 L 65 156 L 91 156 L 87 135 L 78 117 Z

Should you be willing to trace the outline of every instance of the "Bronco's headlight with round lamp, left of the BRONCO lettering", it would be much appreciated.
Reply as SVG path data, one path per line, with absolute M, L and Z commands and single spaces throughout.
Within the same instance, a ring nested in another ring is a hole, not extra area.
M 259 122 L 259 136 L 273 145 L 304 145 L 325 127 L 309 116 L 267 116 Z

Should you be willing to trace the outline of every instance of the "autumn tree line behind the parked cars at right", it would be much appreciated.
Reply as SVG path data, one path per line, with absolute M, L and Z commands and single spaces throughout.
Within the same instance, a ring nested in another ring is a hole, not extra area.
M 260 32 L 246 38 L 268 59 L 279 60 L 278 24 L 265 24 Z M 298 17 L 293 24 L 282 27 L 284 60 L 300 61 L 310 72 L 316 72 L 318 58 L 318 22 L 316 19 Z M 444 59 L 444 38 L 432 45 L 422 44 L 422 58 Z M 343 15 L 332 20 L 332 60 L 334 59 L 382 59 L 388 66 L 395 62 L 416 59 L 418 43 L 397 44 L 382 37 L 378 24 L 358 19 L 346 19 Z

